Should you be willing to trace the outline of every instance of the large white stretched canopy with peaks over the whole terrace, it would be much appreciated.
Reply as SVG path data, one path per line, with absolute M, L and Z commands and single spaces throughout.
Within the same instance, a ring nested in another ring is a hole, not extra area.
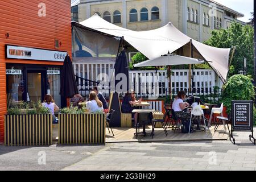
M 229 71 L 229 53 L 230 48 L 210 47 L 179 31 L 172 23 L 166 26 L 149 31 L 132 31 L 126 28 L 115 26 L 112 23 L 102 19 L 97 14 L 79 23 L 80 25 L 91 28 L 105 34 L 123 37 L 131 46 L 141 52 L 148 59 L 154 59 L 164 55 L 168 51 L 171 53 L 185 46 L 192 40 L 193 46 L 201 56 L 214 69 L 222 82 L 226 82 Z

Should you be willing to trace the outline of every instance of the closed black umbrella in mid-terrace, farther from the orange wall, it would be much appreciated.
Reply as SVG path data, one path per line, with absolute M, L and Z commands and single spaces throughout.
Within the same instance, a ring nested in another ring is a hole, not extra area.
M 122 80 L 117 80 L 117 75 L 119 73 L 123 73 L 125 74 L 127 81 L 125 84 L 123 84 L 122 82 L 121 91 L 126 92 L 127 90 L 129 90 L 129 72 L 128 72 L 126 53 L 124 50 L 122 50 L 118 55 L 117 60 L 115 61 L 114 69 L 115 69 L 115 91 L 117 92 L 119 91 L 119 90 L 116 90 L 117 89 L 116 86 L 119 82 L 122 81 Z

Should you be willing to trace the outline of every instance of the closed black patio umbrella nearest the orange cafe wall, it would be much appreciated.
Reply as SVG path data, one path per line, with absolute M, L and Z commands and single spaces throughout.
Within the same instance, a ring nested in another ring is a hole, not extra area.
M 78 93 L 79 90 L 77 89 L 72 62 L 69 55 L 67 54 L 61 72 L 60 95 L 65 98 L 72 98 L 73 95 Z

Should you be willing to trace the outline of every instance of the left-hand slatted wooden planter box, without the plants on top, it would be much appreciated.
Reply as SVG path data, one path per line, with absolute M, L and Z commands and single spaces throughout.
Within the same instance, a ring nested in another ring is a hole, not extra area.
M 6 146 L 52 144 L 52 114 L 5 115 Z

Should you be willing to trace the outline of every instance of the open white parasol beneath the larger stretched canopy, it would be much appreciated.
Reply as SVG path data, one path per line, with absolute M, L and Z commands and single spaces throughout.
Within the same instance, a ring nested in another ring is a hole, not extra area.
M 134 64 L 134 67 L 161 67 L 168 65 L 182 65 L 182 64 L 201 64 L 203 60 L 178 56 L 173 54 L 167 54 L 160 57 L 156 57 L 155 59 L 150 59 L 147 61 L 143 61 L 141 63 Z

